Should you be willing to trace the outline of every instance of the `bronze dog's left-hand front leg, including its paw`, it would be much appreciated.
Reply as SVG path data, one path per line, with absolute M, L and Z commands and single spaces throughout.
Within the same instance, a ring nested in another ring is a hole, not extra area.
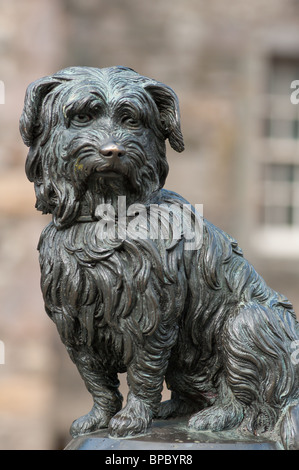
M 105 371 L 90 350 L 67 349 L 94 402 L 89 413 L 73 422 L 70 432 L 76 437 L 108 427 L 111 417 L 121 409 L 122 395 L 118 390 L 117 373 Z

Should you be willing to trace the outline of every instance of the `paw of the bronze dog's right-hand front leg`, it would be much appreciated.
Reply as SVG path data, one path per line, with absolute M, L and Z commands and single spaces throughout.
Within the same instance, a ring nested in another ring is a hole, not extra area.
M 152 421 L 149 408 L 137 397 L 131 397 L 127 405 L 109 423 L 112 437 L 128 437 L 143 434 Z

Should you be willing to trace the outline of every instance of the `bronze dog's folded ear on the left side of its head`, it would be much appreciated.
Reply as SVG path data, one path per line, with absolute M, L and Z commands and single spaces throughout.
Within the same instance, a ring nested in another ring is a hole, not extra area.
M 30 147 L 34 138 L 40 134 L 41 123 L 38 122 L 38 117 L 43 99 L 60 83 L 61 81 L 53 77 L 44 77 L 28 86 L 19 123 L 20 133 L 27 147 Z

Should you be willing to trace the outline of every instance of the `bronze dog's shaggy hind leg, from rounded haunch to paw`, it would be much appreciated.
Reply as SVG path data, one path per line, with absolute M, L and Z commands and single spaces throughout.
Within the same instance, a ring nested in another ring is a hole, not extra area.
M 219 397 L 192 416 L 190 426 L 220 431 L 246 416 L 253 433 L 273 429 L 281 410 L 298 398 L 298 370 L 290 354 L 297 334 L 292 314 L 282 307 L 250 302 L 232 312 L 218 338 Z

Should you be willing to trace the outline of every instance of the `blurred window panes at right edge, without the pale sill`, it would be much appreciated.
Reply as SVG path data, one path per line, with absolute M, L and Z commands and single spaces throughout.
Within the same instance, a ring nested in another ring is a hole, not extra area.
M 270 61 L 264 101 L 261 222 L 299 226 L 299 104 L 291 102 L 291 83 L 299 80 L 299 58 Z

